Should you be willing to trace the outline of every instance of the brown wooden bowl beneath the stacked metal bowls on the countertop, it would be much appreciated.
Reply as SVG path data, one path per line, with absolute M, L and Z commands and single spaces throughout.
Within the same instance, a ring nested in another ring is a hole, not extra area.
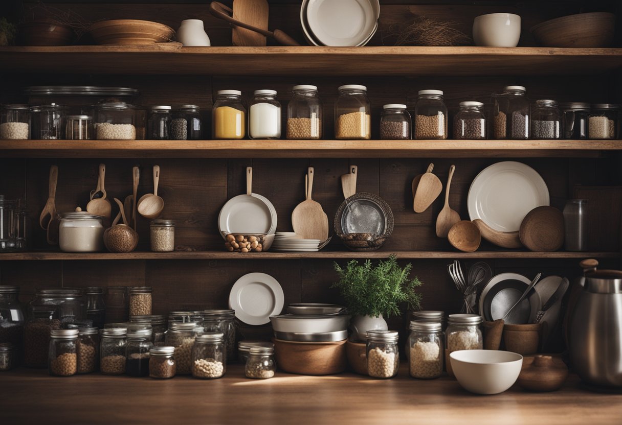
M 337 342 L 294 342 L 272 339 L 277 367 L 299 375 L 333 375 L 346 369 L 346 339 Z

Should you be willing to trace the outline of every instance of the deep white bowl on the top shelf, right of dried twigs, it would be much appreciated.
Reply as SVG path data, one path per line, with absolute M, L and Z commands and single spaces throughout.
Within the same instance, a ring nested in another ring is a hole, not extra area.
M 521 17 L 512 13 L 481 15 L 473 21 L 476 46 L 516 47 L 521 38 Z

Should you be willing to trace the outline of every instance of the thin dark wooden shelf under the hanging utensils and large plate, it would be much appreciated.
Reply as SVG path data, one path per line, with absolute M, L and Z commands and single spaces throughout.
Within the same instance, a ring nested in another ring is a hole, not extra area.
M 14 260 L 299 260 L 305 258 L 620 258 L 620 252 L 524 252 L 524 251 L 481 251 L 481 252 L 438 252 L 438 251 L 320 251 L 320 252 L 249 252 L 247 254 L 221 251 L 177 251 L 177 252 L 130 252 L 113 254 L 96 252 L 72 254 L 68 252 L 9 252 L 0 254 L 0 261 Z

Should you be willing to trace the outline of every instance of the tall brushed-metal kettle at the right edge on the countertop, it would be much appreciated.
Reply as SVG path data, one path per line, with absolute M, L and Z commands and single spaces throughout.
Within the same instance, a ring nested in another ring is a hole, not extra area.
M 568 343 L 575 372 L 587 383 L 622 387 L 622 272 L 583 260 L 583 289 L 569 312 Z

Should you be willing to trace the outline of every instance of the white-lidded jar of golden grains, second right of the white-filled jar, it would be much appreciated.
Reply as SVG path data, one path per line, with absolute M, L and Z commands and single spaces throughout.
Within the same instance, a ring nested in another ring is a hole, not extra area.
M 371 104 L 366 86 L 340 86 L 335 101 L 335 139 L 371 139 Z

